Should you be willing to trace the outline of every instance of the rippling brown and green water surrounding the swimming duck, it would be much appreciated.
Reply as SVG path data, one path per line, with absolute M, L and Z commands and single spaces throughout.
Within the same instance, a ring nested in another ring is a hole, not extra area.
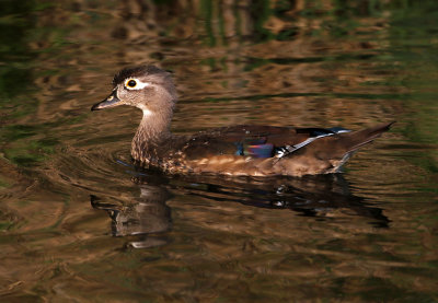
M 3 302 L 438 301 L 436 1 L 0 2 Z M 345 172 L 131 167 L 122 67 L 173 71 L 173 131 L 396 120 Z

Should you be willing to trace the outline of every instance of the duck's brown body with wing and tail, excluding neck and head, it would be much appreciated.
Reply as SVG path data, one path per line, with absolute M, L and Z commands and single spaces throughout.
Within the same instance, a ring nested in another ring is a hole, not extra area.
M 337 172 L 351 153 L 391 124 L 350 132 L 343 128 L 233 126 L 173 137 L 160 148 L 171 173 L 291 175 Z

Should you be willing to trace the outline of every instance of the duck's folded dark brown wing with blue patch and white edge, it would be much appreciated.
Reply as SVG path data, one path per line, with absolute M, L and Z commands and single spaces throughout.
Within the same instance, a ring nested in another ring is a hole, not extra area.
M 283 158 L 312 141 L 349 130 L 343 128 L 291 128 L 273 126 L 233 126 L 192 136 L 182 147 L 187 160 L 218 155 Z

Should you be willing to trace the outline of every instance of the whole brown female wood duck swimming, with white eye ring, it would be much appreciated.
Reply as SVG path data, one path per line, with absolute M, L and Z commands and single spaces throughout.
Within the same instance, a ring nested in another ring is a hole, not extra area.
M 389 130 L 390 124 L 359 131 L 240 125 L 175 136 L 170 131 L 176 90 L 154 66 L 124 69 L 114 90 L 91 110 L 130 105 L 143 112 L 131 154 L 141 165 L 170 174 L 302 176 L 336 173 L 351 154 Z

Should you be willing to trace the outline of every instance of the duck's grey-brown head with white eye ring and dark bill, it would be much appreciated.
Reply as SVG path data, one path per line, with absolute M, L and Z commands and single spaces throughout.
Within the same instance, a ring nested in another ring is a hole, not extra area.
M 113 92 L 91 110 L 130 105 L 145 115 L 172 110 L 176 90 L 169 72 L 154 66 L 126 68 L 114 75 Z

